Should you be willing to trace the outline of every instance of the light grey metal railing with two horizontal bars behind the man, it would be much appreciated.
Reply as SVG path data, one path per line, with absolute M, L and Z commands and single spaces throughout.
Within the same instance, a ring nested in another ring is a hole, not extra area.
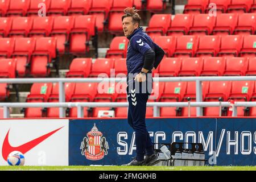
M 203 115 L 203 107 L 229 106 L 228 102 L 202 102 L 202 81 L 256 81 L 256 76 L 213 76 L 213 77 L 154 77 L 154 81 L 159 82 L 177 82 L 177 81 L 195 81 L 196 82 L 196 102 L 148 102 L 147 106 L 154 107 L 154 116 L 159 116 L 159 107 L 197 107 L 196 115 Z M 9 107 L 60 107 L 59 117 L 63 118 L 65 107 L 77 107 L 78 117 L 82 116 L 82 107 L 127 107 L 126 102 L 65 102 L 64 84 L 65 82 L 125 82 L 126 78 L 0 78 L 0 83 L 9 84 L 28 84 L 35 82 L 57 82 L 59 83 L 59 103 L 1 103 L 4 108 L 4 117 L 9 117 Z M 256 102 L 237 102 L 233 115 L 236 115 L 237 106 L 256 106 Z

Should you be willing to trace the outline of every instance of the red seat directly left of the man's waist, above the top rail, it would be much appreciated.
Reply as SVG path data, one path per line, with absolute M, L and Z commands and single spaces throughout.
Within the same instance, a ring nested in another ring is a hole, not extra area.
M 115 69 L 115 77 L 126 77 L 127 76 L 126 58 L 115 58 L 114 69 Z

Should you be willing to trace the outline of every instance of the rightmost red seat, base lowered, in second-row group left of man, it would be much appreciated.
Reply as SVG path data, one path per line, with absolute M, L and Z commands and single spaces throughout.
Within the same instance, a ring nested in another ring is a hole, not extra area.
M 71 29 L 69 52 L 85 55 L 89 51 L 89 40 L 96 34 L 96 16 L 76 16 Z

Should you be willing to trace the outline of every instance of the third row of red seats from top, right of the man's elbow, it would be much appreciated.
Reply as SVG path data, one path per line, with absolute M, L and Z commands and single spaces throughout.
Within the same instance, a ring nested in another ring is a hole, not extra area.
M 158 36 L 167 57 L 255 57 L 256 35 Z

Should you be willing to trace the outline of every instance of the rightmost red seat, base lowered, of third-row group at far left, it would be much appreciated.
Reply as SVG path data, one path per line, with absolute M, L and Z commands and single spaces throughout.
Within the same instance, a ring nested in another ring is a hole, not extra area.
M 35 51 L 31 57 L 30 74 L 32 76 L 48 76 L 50 64 L 56 58 L 56 39 L 37 38 Z

